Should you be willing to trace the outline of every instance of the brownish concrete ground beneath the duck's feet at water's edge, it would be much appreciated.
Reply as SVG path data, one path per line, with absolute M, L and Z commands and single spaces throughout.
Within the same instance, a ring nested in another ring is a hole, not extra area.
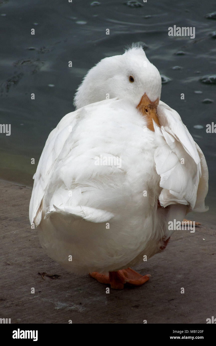
M 216 316 L 215 226 L 175 231 L 164 252 L 136 267 L 152 275 L 147 283 L 107 294 L 107 285 L 67 273 L 46 256 L 29 225 L 30 197 L 31 189 L 0 181 L 0 318 L 16 324 L 206 324 Z M 44 272 L 60 276 L 43 279 Z

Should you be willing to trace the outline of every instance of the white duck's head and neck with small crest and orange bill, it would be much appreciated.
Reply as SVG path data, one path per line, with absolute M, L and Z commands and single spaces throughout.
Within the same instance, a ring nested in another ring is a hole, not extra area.
M 81 108 L 107 98 L 126 99 L 150 119 L 154 130 L 161 97 L 161 76 L 149 62 L 141 44 L 133 44 L 122 55 L 102 59 L 85 76 L 77 89 L 74 105 Z

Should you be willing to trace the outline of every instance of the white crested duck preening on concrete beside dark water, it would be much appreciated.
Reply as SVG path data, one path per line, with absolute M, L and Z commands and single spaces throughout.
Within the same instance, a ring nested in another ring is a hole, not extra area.
M 149 279 L 128 267 L 166 246 L 168 221 L 207 210 L 205 157 L 160 95 L 161 76 L 139 44 L 104 58 L 33 177 L 29 218 L 47 254 L 115 289 Z

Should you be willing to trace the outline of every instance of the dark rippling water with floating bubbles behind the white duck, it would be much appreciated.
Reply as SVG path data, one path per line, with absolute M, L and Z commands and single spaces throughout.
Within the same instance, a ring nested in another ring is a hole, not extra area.
M 210 212 L 199 215 L 199 220 L 212 221 L 216 134 L 206 133 L 206 124 L 216 123 L 216 84 L 199 79 L 216 74 L 216 39 L 211 37 L 216 20 L 205 17 L 216 11 L 216 3 L 140 0 L 142 7 L 129 7 L 124 0 L 101 0 L 100 6 L 90 3 L 0 0 L 0 123 L 11 124 L 10 136 L 0 134 L 0 177 L 31 186 L 46 138 L 74 110 L 75 90 L 88 69 L 106 56 L 122 54 L 126 45 L 142 41 L 148 46 L 148 59 L 171 79 L 162 86 L 161 100 L 180 113 L 206 156 Z M 195 39 L 168 36 L 168 28 L 174 25 L 195 27 Z M 179 51 L 185 54 L 176 55 Z M 204 99 L 214 102 L 202 103 Z

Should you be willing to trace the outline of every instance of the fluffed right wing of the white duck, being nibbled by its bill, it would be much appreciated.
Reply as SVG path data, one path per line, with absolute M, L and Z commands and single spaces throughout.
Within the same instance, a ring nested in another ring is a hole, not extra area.
M 163 207 L 183 204 L 193 211 L 207 211 L 208 167 L 205 156 L 195 143 L 180 115 L 160 101 L 154 124 L 158 147 L 154 160 L 161 176 L 159 202 Z

